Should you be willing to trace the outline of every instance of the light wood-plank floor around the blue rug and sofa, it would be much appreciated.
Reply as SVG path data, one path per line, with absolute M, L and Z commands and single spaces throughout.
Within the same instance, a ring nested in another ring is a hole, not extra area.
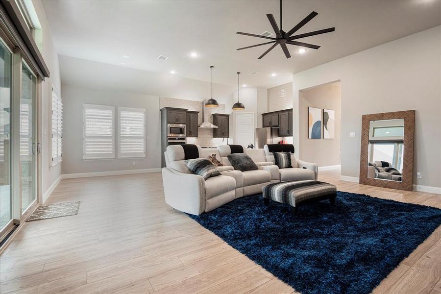
M 340 191 L 441 208 L 441 196 L 319 179 Z M 48 203 L 76 216 L 27 222 L 0 256 L 1 293 L 294 293 L 164 202 L 160 173 L 64 179 Z M 441 227 L 374 293 L 441 294 Z

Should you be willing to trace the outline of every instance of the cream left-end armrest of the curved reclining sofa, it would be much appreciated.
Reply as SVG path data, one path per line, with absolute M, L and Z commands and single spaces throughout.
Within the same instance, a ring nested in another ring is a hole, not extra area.
M 166 203 L 173 208 L 200 215 L 205 211 L 205 180 L 192 173 L 171 168 L 162 169 L 162 182 Z

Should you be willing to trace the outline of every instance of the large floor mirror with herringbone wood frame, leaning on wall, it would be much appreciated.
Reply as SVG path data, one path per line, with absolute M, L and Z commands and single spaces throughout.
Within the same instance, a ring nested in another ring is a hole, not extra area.
M 412 191 L 415 110 L 362 117 L 360 184 Z

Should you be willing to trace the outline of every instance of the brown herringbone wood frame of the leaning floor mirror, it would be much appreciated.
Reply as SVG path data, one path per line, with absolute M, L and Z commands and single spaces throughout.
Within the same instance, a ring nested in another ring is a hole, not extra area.
M 404 119 L 404 155 L 402 181 L 368 178 L 369 122 Z M 362 116 L 360 184 L 412 191 L 414 171 L 415 110 L 366 114 Z

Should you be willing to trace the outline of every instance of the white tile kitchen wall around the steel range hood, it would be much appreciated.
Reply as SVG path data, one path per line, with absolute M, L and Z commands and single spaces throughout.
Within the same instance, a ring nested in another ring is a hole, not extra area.
M 176 98 L 159 98 L 159 109 L 163 107 L 187 108 L 192 111 L 199 111 L 197 114 L 197 124 L 202 123 L 202 101 L 185 100 Z M 210 113 L 210 123 L 213 123 L 213 113 L 225 113 L 225 104 L 219 104 L 219 107 L 205 107 L 205 112 Z M 202 147 L 225 145 L 226 139 L 222 142 L 222 138 L 213 138 L 212 129 L 198 129 L 197 138 L 187 138 L 188 144 L 196 144 Z M 231 143 L 231 141 L 230 141 Z

